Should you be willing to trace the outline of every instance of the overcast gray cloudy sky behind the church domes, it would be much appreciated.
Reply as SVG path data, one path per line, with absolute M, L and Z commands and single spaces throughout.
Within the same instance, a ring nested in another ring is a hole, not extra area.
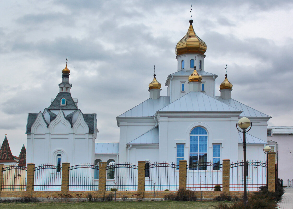
M 50 106 L 66 57 L 72 97 L 97 114 L 96 142 L 118 142 L 116 117 L 149 98 L 154 64 L 166 95 L 190 4 L 216 90 L 227 64 L 232 98 L 293 126 L 292 1 L 10 0 L 0 3 L 0 143 L 7 133 L 19 155 L 27 115 Z

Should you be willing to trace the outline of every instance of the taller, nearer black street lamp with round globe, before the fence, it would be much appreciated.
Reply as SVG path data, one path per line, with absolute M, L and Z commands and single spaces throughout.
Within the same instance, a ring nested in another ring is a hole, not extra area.
M 250 126 L 250 128 L 249 128 Z M 247 172 L 247 168 L 246 168 L 246 136 L 245 133 L 248 132 L 251 129 L 252 126 L 252 122 L 250 122 L 250 120 L 246 117 L 240 118 L 238 123 L 236 124 L 236 128 L 238 131 L 240 131 L 241 133 L 243 133 L 243 177 L 244 177 L 244 196 L 243 196 L 243 202 L 244 205 L 246 205 L 246 203 L 248 202 L 248 197 L 247 197 L 247 193 L 246 193 L 246 172 Z M 239 129 L 242 129 L 242 131 Z M 249 128 L 249 129 L 248 129 Z M 246 131 L 246 129 L 248 129 Z

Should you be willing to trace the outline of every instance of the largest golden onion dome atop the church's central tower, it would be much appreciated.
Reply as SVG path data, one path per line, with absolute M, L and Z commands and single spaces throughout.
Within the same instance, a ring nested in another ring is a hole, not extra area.
M 201 40 L 194 32 L 192 23 L 193 20 L 189 20 L 190 26 L 186 35 L 177 43 L 175 53 L 176 55 L 193 53 L 193 54 L 205 54 L 207 51 L 207 45 Z

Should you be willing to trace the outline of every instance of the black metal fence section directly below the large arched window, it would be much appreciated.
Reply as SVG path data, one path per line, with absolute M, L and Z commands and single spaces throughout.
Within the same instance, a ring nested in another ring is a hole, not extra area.
M 214 162 L 198 162 L 187 165 L 186 188 L 195 191 L 213 191 L 222 188 L 223 165 Z

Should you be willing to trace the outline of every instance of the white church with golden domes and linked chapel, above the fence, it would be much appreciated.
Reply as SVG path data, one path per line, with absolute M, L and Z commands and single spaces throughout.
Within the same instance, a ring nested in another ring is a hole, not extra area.
M 117 117 L 119 143 L 95 143 L 96 114 L 78 109 L 66 67 L 50 107 L 28 114 L 27 163 L 238 161 L 243 159 L 243 138 L 236 129 L 241 117 L 252 121 L 246 134 L 247 159 L 265 160 L 271 117 L 232 99 L 227 75 L 220 77 L 219 88 L 215 86 L 218 76 L 204 68 L 207 46 L 195 34 L 193 20 L 189 22 L 176 45 L 178 70 L 166 79 L 167 95 L 160 95 L 161 84 L 154 75 L 149 98 Z

